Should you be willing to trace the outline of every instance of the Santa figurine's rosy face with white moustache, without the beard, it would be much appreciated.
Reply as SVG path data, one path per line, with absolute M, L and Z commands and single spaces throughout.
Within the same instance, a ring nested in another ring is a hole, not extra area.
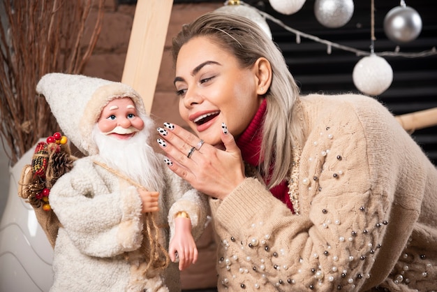
M 97 121 L 98 129 L 105 135 L 126 140 L 144 128 L 144 122 L 129 97 L 114 98 L 105 108 Z

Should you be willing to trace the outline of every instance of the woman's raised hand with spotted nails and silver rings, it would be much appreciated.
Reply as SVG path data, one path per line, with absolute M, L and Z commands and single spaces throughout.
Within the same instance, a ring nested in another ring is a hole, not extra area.
M 164 125 L 165 129 L 158 128 L 164 139 L 158 139 L 158 144 L 168 156 L 165 162 L 193 188 L 223 200 L 243 182 L 242 154 L 224 124 L 221 140 L 225 150 L 200 143 L 198 137 L 180 126 Z

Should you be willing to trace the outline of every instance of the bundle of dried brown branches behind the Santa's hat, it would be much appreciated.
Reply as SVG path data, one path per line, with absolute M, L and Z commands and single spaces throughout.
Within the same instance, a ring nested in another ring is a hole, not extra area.
M 45 99 L 36 96 L 36 83 L 50 72 L 82 72 L 101 31 L 104 1 L 98 8 L 91 0 L 0 3 L 0 138 L 11 164 L 59 131 Z M 91 12 L 97 13 L 93 22 Z M 87 27 L 94 30 L 84 39 Z

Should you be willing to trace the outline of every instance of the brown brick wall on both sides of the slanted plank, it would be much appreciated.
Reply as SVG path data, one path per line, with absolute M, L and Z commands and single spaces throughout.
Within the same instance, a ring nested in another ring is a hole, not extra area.
M 103 27 L 84 75 L 120 81 L 131 34 L 134 5 L 116 4 L 117 0 L 106 0 Z M 177 97 L 173 86 L 174 70 L 170 54 L 172 37 L 177 34 L 182 24 L 191 22 L 195 17 L 223 6 L 222 3 L 184 3 L 175 4 L 170 16 L 168 33 L 161 68 L 158 75 L 151 116 L 158 124 L 174 122 L 185 126 L 177 110 Z M 95 15 L 91 16 L 95 17 Z M 147 64 L 145 64 L 147 66 Z

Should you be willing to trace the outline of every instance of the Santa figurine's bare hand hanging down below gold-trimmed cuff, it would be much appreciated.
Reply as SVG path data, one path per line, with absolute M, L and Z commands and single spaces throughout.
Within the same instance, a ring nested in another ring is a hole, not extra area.
M 179 270 L 188 268 L 198 260 L 198 248 L 191 235 L 191 220 L 189 218 L 175 218 L 175 235 L 168 246 L 168 254 L 172 262 L 179 261 Z

